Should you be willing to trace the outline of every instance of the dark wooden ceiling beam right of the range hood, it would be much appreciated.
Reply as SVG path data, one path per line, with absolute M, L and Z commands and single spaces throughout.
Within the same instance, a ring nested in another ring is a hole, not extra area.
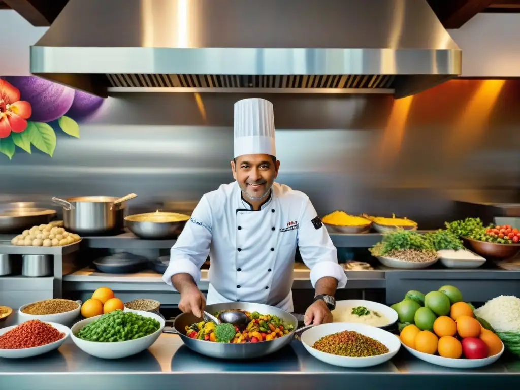
M 459 29 L 464 23 L 500 0 L 428 0 L 446 29 Z

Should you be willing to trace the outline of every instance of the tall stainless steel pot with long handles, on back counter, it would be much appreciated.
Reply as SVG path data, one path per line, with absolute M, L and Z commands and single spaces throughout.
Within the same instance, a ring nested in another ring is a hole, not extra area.
M 75 197 L 66 201 L 53 198 L 63 206 L 63 225 L 80 236 L 117 234 L 124 228 L 126 203 L 116 203 L 118 197 Z

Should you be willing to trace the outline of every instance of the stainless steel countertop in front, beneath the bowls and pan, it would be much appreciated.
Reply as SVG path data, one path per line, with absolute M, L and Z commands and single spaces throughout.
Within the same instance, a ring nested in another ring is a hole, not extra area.
M 439 388 L 457 384 L 484 388 L 520 384 L 520 360 L 501 358 L 478 370 L 457 370 L 430 365 L 405 350 L 383 365 L 346 369 L 327 365 L 310 356 L 293 341 L 279 353 L 257 361 L 227 361 L 191 352 L 180 337 L 162 334 L 148 350 L 118 360 L 98 359 L 77 348 L 71 340 L 57 351 L 31 359 L 0 358 L 3 390 L 145 389 L 150 388 Z M 167 387 L 166 387 L 167 386 Z M 225 386 L 225 387 L 224 387 Z

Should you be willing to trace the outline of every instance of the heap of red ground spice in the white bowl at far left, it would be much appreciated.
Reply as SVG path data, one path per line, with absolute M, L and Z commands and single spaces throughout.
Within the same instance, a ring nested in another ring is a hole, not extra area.
M 0 336 L 0 349 L 33 348 L 54 343 L 64 333 L 40 320 L 31 320 L 8 330 Z

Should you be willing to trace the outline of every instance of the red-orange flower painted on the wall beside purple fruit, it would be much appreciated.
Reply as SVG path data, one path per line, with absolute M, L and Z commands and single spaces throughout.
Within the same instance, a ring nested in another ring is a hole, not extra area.
M 20 100 L 20 91 L 0 79 L 0 138 L 9 137 L 11 131 L 23 132 L 31 111 L 30 103 Z

